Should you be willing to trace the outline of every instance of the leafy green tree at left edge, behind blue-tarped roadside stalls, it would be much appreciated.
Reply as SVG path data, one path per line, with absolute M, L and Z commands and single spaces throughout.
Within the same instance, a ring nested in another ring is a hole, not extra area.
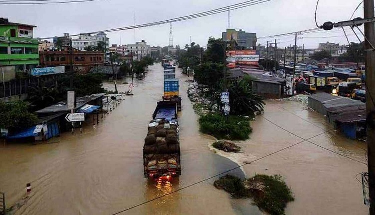
M 0 127 L 14 132 L 34 125 L 37 122 L 35 114 L 28 111 L 28 104 L 24 101 L 0 101 Z

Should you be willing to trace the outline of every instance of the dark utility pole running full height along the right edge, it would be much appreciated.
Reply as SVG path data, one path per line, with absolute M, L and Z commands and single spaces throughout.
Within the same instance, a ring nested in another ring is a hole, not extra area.
M 364 0 L 364 18 L 374 17 L 373 0 Z M 366 110 L 367 114 L 374 113 L 375 104 L 372 101 L 375 96 L 375 25 L 373 22 L 364 24 L 364 50 L 366 62 Z M 373 117 L 371 118 L 373 120 Z M 370 197 L 370 215 L 375 215 L 375 128 L 367 124 L 367 158 L 368 158 L 368 191 Z

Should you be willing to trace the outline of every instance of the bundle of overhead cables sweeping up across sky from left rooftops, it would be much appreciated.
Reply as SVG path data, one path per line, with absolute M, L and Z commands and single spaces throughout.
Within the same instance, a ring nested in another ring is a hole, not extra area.
M 228 10 L 228 8 L 230 8 L 230 10 L 241 9 L 241 8 L 244 8 L 244 7 L 254 6 L 254 5 L 265 3 L 265 2 L 268 2 L 268 1 L 272 1 L 272 0 L 249 0 L 249 1 L 242 2 L 242 3 L 237 3 L 237 4 L 232 4 L 232 5 L 229 5 L 229 6 L 221 7 L 221 8 L 218 8 L 218 9 L 213 9 L 213 10 L 195 13 L 195 14 L 192 14 L 192 15 L 187 15 L 187 16 L 182 16 L 182 17 L 177 17 L 177 18 L 172 18 L 172 19 L 168 19 L 168 20 L 156 21 L 156 22 L 140 24 L 140 25 L 133 25 L 133 26 L 128 26 L 128 27 L 113 28 L 113 29 L 89 32 L 89 33 L 74 34 L 74 35 L 70 35 L 69 37 L 80 36 L 82 34 L 106 33 L 106 32 L 130 30 L 130 29 L 136 29 L 136 28 L 142 28 L 142 27 L 150 27 L 150 26 L 155 26 L 155 25 L 162 25 L 162 24 L 166 24 L 166 23 L 170 23 L 170 22 L 184 21 L 184 20 L 189 20 L 189 19 L 194 19 L 194 18 L 205 17 L 205 16 L 209 16 L 209 15 L 214 15 L 214 14 L 218 14 L 218 13 L 223 13 L 223 12 L 226 12 Z M 52 38 L 54 38 L 54 37 L 46 37 L 46 38 L 40 38 L 40 39 L 52 39 Z

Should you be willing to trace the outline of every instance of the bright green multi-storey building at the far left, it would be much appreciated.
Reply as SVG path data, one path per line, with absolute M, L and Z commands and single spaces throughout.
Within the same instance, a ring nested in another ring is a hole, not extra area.
M 29 74 L 39 65 L 38 40 L 32 38 L 34 27 L 0 18 L 1 82 L 15 79 L 16 72 Z

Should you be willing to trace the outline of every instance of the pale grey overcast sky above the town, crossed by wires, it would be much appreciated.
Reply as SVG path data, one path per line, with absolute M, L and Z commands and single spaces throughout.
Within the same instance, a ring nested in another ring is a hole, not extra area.
M 68 0 L 62 0 L 68 1 Z M 0 17 L 11 22 L 37 25 L 34 37 L 61 36 L 63 33 L 78 34 L 110 28 L 166 20 L 228 6 L 244 0 L 99 0 L 85 3 L 49 5 L 0 5 Z M 317 21 L 338 22 L 348 20 L 361 0 L 320 0 Z M 258 37 L 315 28 L 316 0 L 271 0 L 262 4 L 231 11 L 231 27 L 257 33 Z M 354 17 L 363 17 L 361 6 Z M 174 45 L 184 46 L 190 36 L 201 46 L 208 37 L 221 37 L 228 23 L 228 13 L 173 23 Z M 358 42 L 348 28 L 350 41 Z M 357 31 L 359 33 L 359 31 Z M 360 33 L 359 33 L 360 34 Z M 108 33 L 111 44 L 134 43 L 134 30 Z M 320 42 L 347 44 L 342 30 L 315 32 L 300 35 L 298 45 L 316 48 Z M 166 46 L 169 43 L 169 24 L 146 27 L 135 31 L 137 41 L 146 40 L 150 45 Z M 279 46 L 293 43 L 294 36 L 278 37 Z M 275 38 L 259 39 L 266 44 Z M 362 39 L 362 36 L 361 36 Z

